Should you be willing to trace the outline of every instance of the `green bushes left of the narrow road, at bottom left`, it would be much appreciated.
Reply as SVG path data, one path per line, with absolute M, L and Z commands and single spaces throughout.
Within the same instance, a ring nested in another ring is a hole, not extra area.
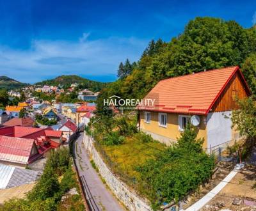
M 63 175 L 63 178 L 59 183 L 58 176 L 60 175 Z M 72 187 L 77 187 L 74 176 L 68 149 L 60 148 L 52 151 L 45 164 L 44 173 L 33 189 L 28 192 L 27 199 L 11 199 L 4 203 L 0 210 L 56 210 L 61 196 Z

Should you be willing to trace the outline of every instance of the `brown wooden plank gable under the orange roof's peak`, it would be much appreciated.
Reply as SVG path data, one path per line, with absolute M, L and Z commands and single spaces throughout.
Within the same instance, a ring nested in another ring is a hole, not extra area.
M 228 82 L 220 97 L 216 100 L 210 112 L 232 111 L 238 109 L 236 97 L 243 99 L 250 93 L 246 91 L 246 84 L 241 78 L 240 72 L 236 72 Z

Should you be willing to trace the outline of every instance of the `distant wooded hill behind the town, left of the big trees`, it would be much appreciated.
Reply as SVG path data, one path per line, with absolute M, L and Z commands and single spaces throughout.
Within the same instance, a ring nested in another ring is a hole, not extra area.
M 78 83 L 79 88 L 88 88 L 92 91 L 100 91 L 102 88 L 106 86 L 106 82 L 98 82 L 98 81 L 91 81 L 89 79 L 84 79 L 83 77 L 79 77 L 77 75 L 61 75 L 56 77 L 55 79 L 45 80 L 41 82 L 36 82 L 35 85 L 42 85 L 44 86 L 63 86 L 63 88 L 70 87 L 71 84 Z

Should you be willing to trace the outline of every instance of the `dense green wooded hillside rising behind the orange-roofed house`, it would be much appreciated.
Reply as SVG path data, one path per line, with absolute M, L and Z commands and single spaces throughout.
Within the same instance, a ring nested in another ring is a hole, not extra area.
M 142 98 L 161 79 L 234 65 L 241 66 L 255 95 L 255 27 L 244 29 L 233 20 L 197 17 L 170 42 L 152 40 L 136 63 L 120 63 L 118 81 L 109 84 L 98 104 L 111 95 Z

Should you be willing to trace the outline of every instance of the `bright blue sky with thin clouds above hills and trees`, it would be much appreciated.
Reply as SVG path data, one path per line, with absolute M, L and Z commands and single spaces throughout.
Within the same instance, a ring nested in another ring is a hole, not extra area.
M 197 16 L 256 23 L 256 1 L 0 0 L 0 75 L 37 82 L 77 74 L 114 81 L 151 39 L 170 41 Z

